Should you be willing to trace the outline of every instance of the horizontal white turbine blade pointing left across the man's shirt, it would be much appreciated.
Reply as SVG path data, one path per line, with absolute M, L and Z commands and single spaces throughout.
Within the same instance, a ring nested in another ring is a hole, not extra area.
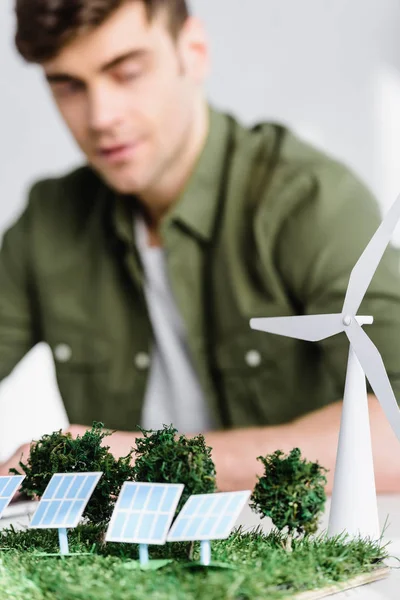
M 250 327 L 308 342 L 318 342 L 344 329 L 340 314 L 257 318 L 250 320 Z

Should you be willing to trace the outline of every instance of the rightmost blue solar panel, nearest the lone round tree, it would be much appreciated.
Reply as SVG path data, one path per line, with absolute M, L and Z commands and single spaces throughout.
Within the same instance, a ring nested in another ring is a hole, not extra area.
M 168 534 L 168 542 L 225 539 L 232 531 L 251 492 L 191 496 Z

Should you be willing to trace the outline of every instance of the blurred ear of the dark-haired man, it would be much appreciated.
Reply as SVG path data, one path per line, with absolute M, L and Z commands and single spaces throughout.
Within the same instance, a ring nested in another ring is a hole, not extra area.
M 195 83 L 203 83 L 210 71 L 210 56 L 207 35 L 200 19 L 188 17 L 177 44 L 182 70 Z

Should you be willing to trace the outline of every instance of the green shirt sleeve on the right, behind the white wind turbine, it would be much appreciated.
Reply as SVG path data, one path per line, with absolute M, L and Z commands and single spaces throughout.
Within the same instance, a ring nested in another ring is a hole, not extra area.
M 313 193 L 284 220 L 278 262 L 296 309 L 303 314 L 342 312 L 352 268 L 381 222 L 378 204 L 349 170 L 327 163 L 315 172 Z M 399 225 L 400 227 L 400 225 Z M 386 250 L 358 311 L 372 315 L 364 330 L 380 351 L 400 401 L 399 252 Z M 344 333 L 320 342 L 324 358 L 343 394 L 349 342 Z

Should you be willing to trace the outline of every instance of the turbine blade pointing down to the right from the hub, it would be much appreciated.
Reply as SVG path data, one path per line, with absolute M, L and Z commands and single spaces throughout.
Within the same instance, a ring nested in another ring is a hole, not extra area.
M 387 420 L 400 441 L 400 409 L 379 350 L 357 322 L 353 321 L 350 327 L 346 327 L 345 333 Z

